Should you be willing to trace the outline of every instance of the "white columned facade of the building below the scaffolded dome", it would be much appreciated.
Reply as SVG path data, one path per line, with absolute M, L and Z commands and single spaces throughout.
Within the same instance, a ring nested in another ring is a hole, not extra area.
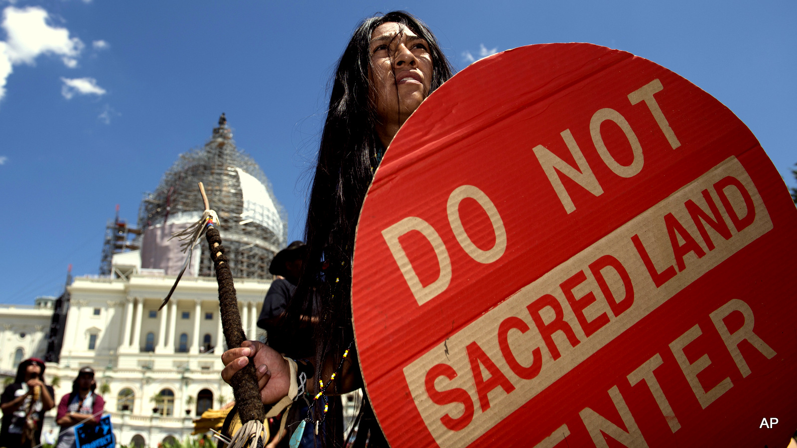
M 128 279 L 78 277 L 69 286 L 71 303 L 60 363 L 47 363 L 56 402 L 69 394 L 81 367 L 95 370 L 96 392 L 105 400 L 117 442 L 158 446 L 183 439 L 193 419 L 233 400 L 221 376 L 225 348 L 213 278 L 180 281 L 158 311 L 174 276 L 134 272 Z M 249 339 L 265 339 L 257 316 L 271 284 L 235 279 L 238 307 Z M 54 298 L 34 306 L 0 306 L 0 369 L 16 374 L 20 360 L 43 358 Z M 57 434 L 56 409 L 47 413 L 43 438 Z

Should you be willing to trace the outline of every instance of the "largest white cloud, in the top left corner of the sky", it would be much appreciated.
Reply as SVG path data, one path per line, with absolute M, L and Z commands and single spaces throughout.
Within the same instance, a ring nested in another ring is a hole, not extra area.
M 61 56 L 68 68 L 77 67 L 77 57 L 84 44 L 77 37 L 69 37 L 69 29 L 48 25 L 49 14 L 39 6 L 2 10 L 2 29 L 6 41 L 0 41 L 0 99 L 6 94 L 6 80 L 14 65 L 33 65 L 37 56 Z

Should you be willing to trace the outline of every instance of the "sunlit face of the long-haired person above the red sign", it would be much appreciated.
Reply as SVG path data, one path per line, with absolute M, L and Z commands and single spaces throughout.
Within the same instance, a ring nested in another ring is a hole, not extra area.
M 371 99 L 383 125 L 401 126 L 429 95 L 429 43 L 405 25 L 387 22 L 371 33 Z M 398 123 L 394 123 L 398 122 Z

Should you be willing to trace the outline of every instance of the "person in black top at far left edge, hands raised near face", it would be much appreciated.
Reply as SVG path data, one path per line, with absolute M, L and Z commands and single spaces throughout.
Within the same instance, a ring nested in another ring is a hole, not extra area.
M 19 363 L 14 383 L 0 397 L 0 446 L 38 445 L 45 412 L 54 405 L 53 387 L 45 384 L 45 362 L 30 358 Z

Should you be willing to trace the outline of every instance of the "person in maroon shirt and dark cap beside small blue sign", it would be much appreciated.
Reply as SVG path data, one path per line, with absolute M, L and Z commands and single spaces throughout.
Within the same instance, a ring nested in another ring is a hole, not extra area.
M 61 426 L 57 448 L 73 448 L 75 428 L 79 423 L 96 425 L 102 418 L 105 401 L 94 393 L 97 384 L 94 381 L 94 370 L 90 367 L 80 368 L 77 378 L 72 383 L 72 392 L 61 398 L 58 403 L 58 414 L 55 423 Z

